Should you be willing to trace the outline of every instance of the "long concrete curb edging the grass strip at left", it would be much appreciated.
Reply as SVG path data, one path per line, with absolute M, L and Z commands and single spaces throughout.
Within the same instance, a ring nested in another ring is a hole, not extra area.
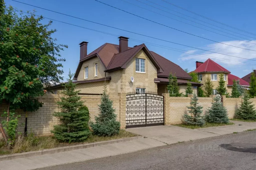
M 135 137 L 130 137 L 130 138 L 114 139 L 114 140 L 100 141 L 100 142 L 94 142 L 94 143 L 85 143 L 85 144 L 80 144 L 80 145 L 65 146 L 65 147 L 52 148 L 52 149 L 44 149 L 41 151 L 15 153 L 15 154 L 11 154 L 11 155 L 0 156 L 0 161 L 7 161 L 7 160 L 19 159 L 19 158 L 27 158 L 27 157 L 31 157 L 31 156 L 39 156 L 39 155 L 53 154 L 53 153 L 59 153 L 59 152 L 66 152 L 66 151 L 72 151 L 72 150 L 77 150 L 77 149 L 86 149 L 86 148 L 91 148 L 91 147 L 109 145 L 109 144 L 113 144 L 113 143 L 121 143 L 121 142 L 127 142 L 127 141 L 131 141 L 131 140 L 138 140 L 141 138 L 143 138 L 143 136 L 135 136 Z

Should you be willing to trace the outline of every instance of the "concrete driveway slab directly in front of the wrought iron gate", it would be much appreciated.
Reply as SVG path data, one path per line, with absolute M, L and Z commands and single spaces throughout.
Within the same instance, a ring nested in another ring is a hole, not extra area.
M 218 136 L 218 134 L 172 125 L 128 128 L 126 131 L 152 138 L 167 144 Z

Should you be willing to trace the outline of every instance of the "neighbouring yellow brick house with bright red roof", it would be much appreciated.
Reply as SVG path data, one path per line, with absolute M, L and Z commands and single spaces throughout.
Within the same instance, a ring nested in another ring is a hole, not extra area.
M 233 80 L 240 80 L 240 84 L 243 88 L 248 88 L 249 84 L 240 79 L 239 77 L 230 74 L 230 71 L 225 69 L 224 67 L 220 66 L 218 63 L 212 61 L 211 59 L 207 59 L 205 62 L 196 61 L 196 70 L 193 72 L 197 73 L 198 81 L 202 82 L 203 84 L 206 81 L 207 77 L 210 77 L 212 84 L 213 84 L 213 91 L 212 94 L 217 93 L 217 87 L 219 86 L 220 74 L 224 74 L 224 81 L 225 86 L 227 87 L 227 93 L 231 94 Z M 204 85 L 202 86 L 204 89 Z

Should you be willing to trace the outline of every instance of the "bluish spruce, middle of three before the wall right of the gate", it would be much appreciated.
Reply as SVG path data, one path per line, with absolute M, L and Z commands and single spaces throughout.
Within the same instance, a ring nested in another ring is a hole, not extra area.
M 205 115 L 206 122 L 209 123 L 228 123 L 227 109 L 220 102 L 220 98 L 216 96 L 214 98 L 212 106 L 207 110 Z

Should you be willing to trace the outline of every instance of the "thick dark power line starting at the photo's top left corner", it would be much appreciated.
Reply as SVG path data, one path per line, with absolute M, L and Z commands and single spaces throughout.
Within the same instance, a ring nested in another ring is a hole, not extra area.
M 12 1 L 14 1 L 14 0 L 12 0 Z M 15 2 L 19 2 L 19 1 L 15 1 Z M 23 3 L 23 2 L 19 2 L 19 3 L 26 4 L 26 3 Z M 66 16 L 69 16 L 69 17 L 81 19 L 81 20 L 88 21 L 88 22 L 91 22 L 91 23 L 103 25 L 103 26 L 106 26 L 106 27 L 109 27 L 109 28 L 114 28 L 114 29 L 117 29 L 117 30 L 121 30 L 121 31 L 125 31 L 125 32 L 129 32 L 129 33 L 133 33 L 133 34 L 137 34 L 137 35 L 141 35 L 141 36 L 153 38 L 153 39 L 160 40 L 160 41 L 164 41 L 164 42 L 168 42 L 168 43 L 173 43 L 173 44 L 177 44 L 177 45 L 182 45 L 182 46 L 185 46 L 185 47 L 195 48 L 195 49 L 199 49 L 199 50 L 203 50 L 203 51 L 208 51 L 208 52 L 216 53 L 216 54 L 221 54 L 221 55 L 225 55 L 225 56 L 230 56 L 230 57 L 236 57 L 236 58 L 241 58 L 241 59 L 256 61 L 256 60 L 253 60 L 253 59 L 247 59 L 247 58 L 232 56 L 232 55 L 228 55 L 228 54 L 222 54 L 222 53 L 218 53 L 218 52 L 214 52 L 214 51 L 210 51 L 210 50 L 205 50 L 205 49 L 196 48 L 196 47 L 192 47 L 192 46 L 188 46 L 188 45 L 184 45 L 184 44 L 175 43 L 175 42 L 172 42 L 172 41 L 163 40 L 163 39 L 161 39 L 161 38 L 156 38 L 156 37 L 152 37 L 152 36 L 148 36 L 148 35 L 144 35 L 144 34 L 132 32 L 132 31 L 128 31 L 128 30 L 124 30 L 124 29 L 112 27 L 112 26 L 109 26 L 109 25 L 101 24 L 101 23 L 94 22 L 94 21 L 89 21 L 89 20 L 86 20 L 86 19 L 82 19 L 82 18 L 79 18 L 79 17 L 74 17 L 74 16 L 71 16 L 71 15 L 63 14 L 63 13 L 60 13 L 60 12 L 57 12 L 57 11 L 52 11 L 52 10 L 49 10 L 49 9 L 41 8 L 41 7 L 34 6 L 34 5 L 30 5 L 30 4 L 26 4 L 26 5 L 33 6 L 33 7 L 37 7 L 37 8 L 44 9 L 44 10 L 48 10 L 48 11 L 55 12 L 55 13 L 58 13 L 58 14 L 66 15 Z M 46 18 L 46 17 L 45 17 L 45 18 Z M 62 21 L 61 21 L 61 22 L 62 22 Z M 63 22 L 63 23 L 64 23 L 64 22 Z

